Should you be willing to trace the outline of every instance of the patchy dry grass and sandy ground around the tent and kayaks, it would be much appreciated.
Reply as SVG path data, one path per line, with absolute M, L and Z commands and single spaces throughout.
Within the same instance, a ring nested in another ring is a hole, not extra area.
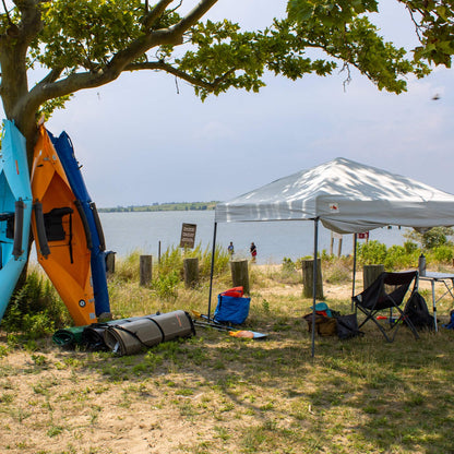
M 34 349 L 0 339 L 1 453 L 450 453 L 454 452 L 454 332 L 402 328 L 386 344 L 372 327 L 318 338 L 311 357 L 298 279 L 253 271 L 247 325 L 266 340 L 198 330 L 131 357 Z M 294 282 L 292 282 L 294 280 Z M 350 283 L 325 284 L 350 311 Z M 358 276 L 357 288 L 361 287 Z M 214 295 L 226 287 L 215 283 Z M 116 314 L 206 312 L 207 287 L 159 300 L 123 282 Z M 215 304 L 215 301 L 214 301 Z M 440 304 L 447 320 L 452 301 Z

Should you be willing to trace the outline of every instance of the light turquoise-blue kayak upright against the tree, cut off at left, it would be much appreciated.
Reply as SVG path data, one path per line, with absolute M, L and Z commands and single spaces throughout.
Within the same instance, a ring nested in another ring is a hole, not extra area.
M 28 258 L 32 189 L 25 138 L 3 120 L 0 150 L 0 320 Z

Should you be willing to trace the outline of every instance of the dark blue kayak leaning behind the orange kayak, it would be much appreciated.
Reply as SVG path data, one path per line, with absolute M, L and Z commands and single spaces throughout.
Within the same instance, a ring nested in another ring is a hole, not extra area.
M 88 224 L 87 228 L 92 239 L 88 248 L 92 252 L 91 266 L 96 316 L 108 318 L 110 315 L 110 303 L 106 277 L 106 244 L 99 215 L 95 203 L 88 195 L 79 163 L 74 156 L 74 148 L 70 136 L 64 131 L 59 138 L 55 138 L 49 132 L 48 134 L 57 151 L 58 157 L 60 158 L 71 190 L 77 200 L 77 210 L 82 210 L 85 213 L 84 218 L 86 218 Z

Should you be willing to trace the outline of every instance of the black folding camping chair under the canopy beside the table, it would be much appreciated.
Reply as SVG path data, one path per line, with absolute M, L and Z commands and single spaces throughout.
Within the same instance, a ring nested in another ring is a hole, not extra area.
M 418 272 L 403 272 L 403 273 L 382 273 L 380 276 L 361 294 L 353 297 L 355 303 L 355 313 L 358 309 L 366 314 L 366 319 L 358 326 L 360 328 L 369 320 L 371 320 L 379 330 L 382 332 L 383 336 L 387 342 L 393 342 L 399 326 L 405 323 L 411 330 L 415 338 L 419 338 L 418 332 L 416 331 L 415 325 L 411 321 L 405 316 L 404 311 L 401 309 L 402 303 L 404 302 L 405 296 L 410 288 L 411 283 L 414 286 L 411 294 L 417 289 L 418 285 Z M 387 318 L 390 322 L 390 328 L 385 330 L 384 326 L 378 321 L 378 313 L 383 310 L 390 310 L 390 316 Z M 393 309 L 396 309 L 398 318 L 393 320 L 392 312 Z M 387 332 L 394 330 L 393 337 L 390 337 Z

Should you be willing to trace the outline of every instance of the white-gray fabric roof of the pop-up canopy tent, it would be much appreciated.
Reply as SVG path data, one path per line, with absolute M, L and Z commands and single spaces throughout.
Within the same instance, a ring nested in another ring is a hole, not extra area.
M 280 178 L 216 205 L 216 223 L 309 220 L 339 234 L 454 225 L 454 195 L 349 159 Z

